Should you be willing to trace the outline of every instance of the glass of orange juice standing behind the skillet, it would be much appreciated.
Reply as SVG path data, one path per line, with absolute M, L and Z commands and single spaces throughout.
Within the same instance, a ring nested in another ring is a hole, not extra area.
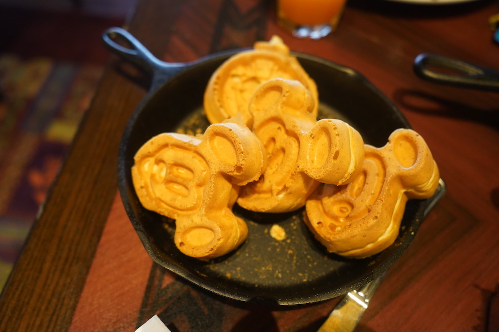
M 293 36 L 319 39 L 338 26 L 347 0 L 277 0 L 277 23 Z

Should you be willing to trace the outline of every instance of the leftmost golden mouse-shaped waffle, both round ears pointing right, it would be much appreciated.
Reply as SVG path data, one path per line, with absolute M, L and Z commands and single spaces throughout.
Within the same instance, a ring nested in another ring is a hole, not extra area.
M 265 167 L 260 141 L 242 117 L 208 127 L 202 136 L 162 133 L 135 155 L 132 178 L 142 205 L 175 219 L 175 244 L 197 258 L 222 256 L 247 237 L 232 207 L 239 188 Z

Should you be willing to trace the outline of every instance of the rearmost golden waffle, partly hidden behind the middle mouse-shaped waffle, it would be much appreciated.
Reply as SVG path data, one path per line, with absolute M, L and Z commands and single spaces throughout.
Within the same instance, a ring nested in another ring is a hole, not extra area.
M 300 81 L 316 102 L 311 112 L 317 116 L 315 82 L 298 60 L 289 55 L 289 48 L 282 39 L 273 36 L 269 42 L 256 42 L 253 49 L 232 56 L 213 73 L 204 95 L 208 120 L 218 123 L 241 112 L 251 128 L 248 102 L 256 88 L 272 78 Z

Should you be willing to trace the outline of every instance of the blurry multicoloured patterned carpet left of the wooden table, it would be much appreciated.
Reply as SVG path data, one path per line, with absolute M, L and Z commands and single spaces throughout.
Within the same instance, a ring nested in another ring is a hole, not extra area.
M 101 65 L 0 55 L 0 289 L 102 70 Z

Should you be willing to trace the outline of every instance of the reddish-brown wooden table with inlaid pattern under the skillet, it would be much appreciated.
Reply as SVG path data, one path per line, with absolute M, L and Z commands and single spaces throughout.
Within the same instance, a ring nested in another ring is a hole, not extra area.
M 423 52 L 499 69 L 488 26 L 498 1 L 350 0 L 338 30 L 319 41 L 280 30 L 274 10 L 269 0 L 142 0 L 125 28 L 166 61 L 279 34 L 294 51 L 366 76 L 426 139 L 448 193 L 358 331 L 498 331 L 499 94 L 429 83 L 412 70 Z M 182 332 L 315 331 L 339 299 L 269 311 L 206 294 L 152 263 L 116 178 L 121 134 L 147 80 L 123 76 L 118 64 L 112 56 L 1 295 L 0 331 L 134 331 L 155 313 Z

